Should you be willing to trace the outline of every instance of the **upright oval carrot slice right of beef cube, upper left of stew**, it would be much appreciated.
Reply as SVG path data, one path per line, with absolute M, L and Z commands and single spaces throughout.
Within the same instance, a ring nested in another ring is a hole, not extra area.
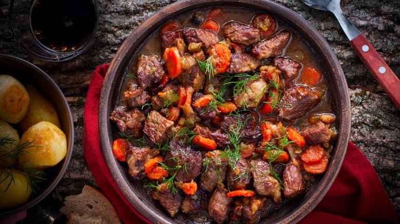
M 166 48 L 163 55 L 168 75 L 171 79 L 177 77 L 182 72 L 182 57 L 178 48 Z

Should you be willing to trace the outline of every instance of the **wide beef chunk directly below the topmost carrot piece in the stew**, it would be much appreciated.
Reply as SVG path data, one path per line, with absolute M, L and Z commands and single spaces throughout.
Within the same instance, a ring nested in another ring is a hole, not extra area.
M 213 30 L 187 28 L 182 32 L 188 45 L 190 43 L 203 43 L 203 47 L 208 48 L 219 41 Z

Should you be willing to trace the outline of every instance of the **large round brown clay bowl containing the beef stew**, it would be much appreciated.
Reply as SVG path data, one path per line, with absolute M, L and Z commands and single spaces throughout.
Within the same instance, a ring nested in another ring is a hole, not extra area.
M 332 52 L 326 40 L 304 18 L 290 9 L 277 3 L 261 0 L 187 0 L 178 1 L 158 11 L 137 27 L 124 41 L 115 54 L 104 85 L 99 105 L 99 127 L 103 153 L 111 174 L 119 189 L 124 193 L 130 203 L 154 223 L 197 223 L 189 221 L 188 217 L 178 213 L 175 218 L 169 217 L 161 206 L 154 202 L 139 182 L 133 182 L 127 175 L 126 168 L 117 162 L 112 153 L 113 138 L 116 137 L 115 125 L 109 117 L 117 105 L 121 85 L 132 57 L 146 41 L 146 38 L 157 31 L 166 21 L 189 11 L 209 7 L 244 7 L 255 11 L 262 11 L 273 15 L 278 20 L 289 25 L 312 48 L 319 59 L 322 68 L 326 70 L 326 82 L 330 91 L 330 104 L 337 117 L 338 138 L 334 144 L 328 169 L 320 180 L 312 185 L 304 197 L 298 198 L 284 205 L 278 212 L 263 218 L 260 223 L 293 223 L 301 220 L 309 213 L 331 187 L 346 154 L 350 133 L 350 99 L 348 88 L 341 65 Z

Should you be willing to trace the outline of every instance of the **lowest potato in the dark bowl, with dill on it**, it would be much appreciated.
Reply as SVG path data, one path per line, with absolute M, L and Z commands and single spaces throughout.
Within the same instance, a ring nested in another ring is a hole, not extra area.
M 31 193 L 32 188 L 28 184 L 28 179 L 21 172 L 0 169 L 0 209 L 26 203 Z

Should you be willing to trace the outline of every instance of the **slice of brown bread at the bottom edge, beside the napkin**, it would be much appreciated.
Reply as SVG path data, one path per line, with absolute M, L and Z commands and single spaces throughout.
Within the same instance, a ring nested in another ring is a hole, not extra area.
M 84 186 L 81 194 L 66 196 L 64 206 L 59 211 L 72 219 L 73 222 L 68 222 L 71 224 L 103 223 L 96 222 L 99 218 L 104 223 L 121 223 L 108 198 L 89 185 Z M 77 222 L 78 219 L 81 221 Z

